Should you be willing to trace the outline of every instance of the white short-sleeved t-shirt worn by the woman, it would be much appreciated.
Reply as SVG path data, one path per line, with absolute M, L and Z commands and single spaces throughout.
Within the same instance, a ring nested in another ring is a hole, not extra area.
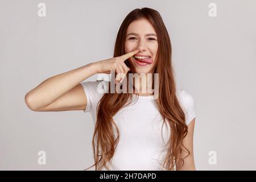
M 104 80 L 81 82 L 87 98 L 84 112 L 92 114 L 94 125 L 96 106 L 104 95 L 97 88 L 105 89 L 107 84 L 108 81 Z M 176 95 L 185 111 L 185 122 L 188 125 L 196 117 L 193 97 L 185 90 L 176 90 Z M 138 96 L 135 104 L 132 102 L 113 116 L 120 136 L 110 162 L 110 170 L 162 170 L 160 164 L 163 165 L 166 155 L 170 126 L 164 124 L 161 132 L 163 118 L 152 98 L 154 96 Z

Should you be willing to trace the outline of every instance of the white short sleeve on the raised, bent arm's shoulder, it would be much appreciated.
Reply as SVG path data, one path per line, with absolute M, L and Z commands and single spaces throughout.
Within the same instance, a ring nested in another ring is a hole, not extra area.
M 104 94 L 105 82 L 103 80 L 96 81 L 84 81 L 81 82 L 82 87 L 86 95 L 86 108 L 83 110 L 85 113 L 90 112 L 93 106 L 97 105 L 97 102 Z

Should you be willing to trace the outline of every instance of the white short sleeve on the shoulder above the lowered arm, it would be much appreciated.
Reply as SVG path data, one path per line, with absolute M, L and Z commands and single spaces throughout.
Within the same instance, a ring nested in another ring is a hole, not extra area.
M 193 120 L 193 118 L 196 117 L 195 101 L 191 94 L 187 93 L 185 90 L 181 90 L 180 103 L 183 106 L 183 110 L 185 112 L 185 123 L 188 125 Z

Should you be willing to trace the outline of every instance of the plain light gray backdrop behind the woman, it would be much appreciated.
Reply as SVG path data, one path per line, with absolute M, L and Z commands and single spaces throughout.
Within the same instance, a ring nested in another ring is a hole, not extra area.
M 38 4 L 46 3 L 46 17 Z M 209 17 L 209 3 L 217 17 Z M 25 94 L 48 77 L 113 56 L 135 8 L 162 15 L 177 88 L 195 99 L 197 170 L 256 169 L 256 1 L 0 1 L 0 169 L 82 170 L 93 163 L 83 111 L 35 112 Z M 96 75 L 88 80 L 96 80 Z M 46 151 L 46 165 L 38 151 Z M 217 164 L 208 163 L 216 151 Z

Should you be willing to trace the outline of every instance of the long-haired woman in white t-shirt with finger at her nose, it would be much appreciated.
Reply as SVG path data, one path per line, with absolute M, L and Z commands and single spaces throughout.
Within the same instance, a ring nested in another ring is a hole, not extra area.
M 195 170 L 195 105 L 185 90 L 176 90 L 171 41 L 158 11 L 135 9 L 126 16 L 113 57 L 48 78 L 26 94 L 27 106 L 34 111 L 90 112 L 96 170 Z M 158 80 L 136 79 L 131 84 L 135 94 L 99 92 L 98 88 L 110 91 L 105 80 L 81 83 L 112 69 L 122 89 L 129 86 L 122 85 L 127 74 L 154 73 Z M 158 97 L 141 92 L 151 87 Z

